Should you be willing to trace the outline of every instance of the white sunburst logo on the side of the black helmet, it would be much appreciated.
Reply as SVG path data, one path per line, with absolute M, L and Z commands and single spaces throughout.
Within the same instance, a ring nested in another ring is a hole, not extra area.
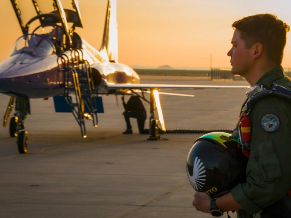
M 187 171 L 187 177 L 189 179 L 190 184 L 195 190 L 202 189 L 205 185 L 206 179 L 202 179 L 206 177 L 206 171 L 204 170 L 203 163 L 201 162 L 198 157 L 195 157 L 195 161 L 193 164 L 193 175 L 190 176 L 189 172 Z

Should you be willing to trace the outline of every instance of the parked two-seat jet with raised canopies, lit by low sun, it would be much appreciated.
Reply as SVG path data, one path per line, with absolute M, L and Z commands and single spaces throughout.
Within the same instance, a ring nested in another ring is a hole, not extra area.
M 101 48 L 96 50 L 76 32 L 82 28 L 78 0 L 63 8 L 61 0 L 31 0 L 35 16 L 24 23 L 27 0 L 10 0 L 23 35 L 15 42 L 10 57 L 0 63 L 0 93 L 11 96 L 3 126 L 10 119 L 11 137 L 17 136 L 19 153 L 26 153 L 28 133 L 25 117 L 30 114 L 30 98 L 54 97 L 56 112 L 72 112 L 86 137 L 84 119 L 97 127 L 97 113 L 102 112 L 100 94 L 136 94 L 146 100 L 150 93 L 150 134 L 156 139 L 159 89 L 162 88 L 248 88 L 247 86 L 203 86 L 140 84 L 139 75 L 118 62 L 116 0 L 108 0 Z M 21 3 L 21 4 L 19 4 Z M 163 122 L 162 129 L 165 130 Z

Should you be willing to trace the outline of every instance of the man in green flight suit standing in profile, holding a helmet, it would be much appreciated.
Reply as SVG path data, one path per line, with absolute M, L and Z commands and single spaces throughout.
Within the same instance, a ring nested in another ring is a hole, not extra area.
M 246 78 L 251 86 L 275 83 L 291 89 L 280 65 L 290 27 L 271 14 L 248 16 L 232 27 L 232 48 L 227 53 L 232 73 Z M 256 214 L 263 218 L 291 217 L 291 197 L 287 194 L 291 189 L 291 101 L 272 95 L 262 97 L 248 116 L 252 135 L 246 182 L 216 200 L 197 192 L 192 204 L 205 213 L 210 213 L 210 207 L 236 210 L 239 218 Z M 238 128 L 233 132 L 235 138 L 239 137 Z

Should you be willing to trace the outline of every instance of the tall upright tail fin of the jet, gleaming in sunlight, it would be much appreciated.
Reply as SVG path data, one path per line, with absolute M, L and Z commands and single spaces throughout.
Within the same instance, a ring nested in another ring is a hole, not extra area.
M 116 0 L 108 0 L 100 53 L 105 60 L 118 62 Z

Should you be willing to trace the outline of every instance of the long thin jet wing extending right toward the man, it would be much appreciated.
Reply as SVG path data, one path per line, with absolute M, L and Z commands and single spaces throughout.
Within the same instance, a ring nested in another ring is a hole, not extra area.
M 108 89 L 206 89 L 206 88 L 250 88 L 250 86 L 227 86 L 227 85 L 178 85 L 178 84 L 112 84 L 106 83 Z

